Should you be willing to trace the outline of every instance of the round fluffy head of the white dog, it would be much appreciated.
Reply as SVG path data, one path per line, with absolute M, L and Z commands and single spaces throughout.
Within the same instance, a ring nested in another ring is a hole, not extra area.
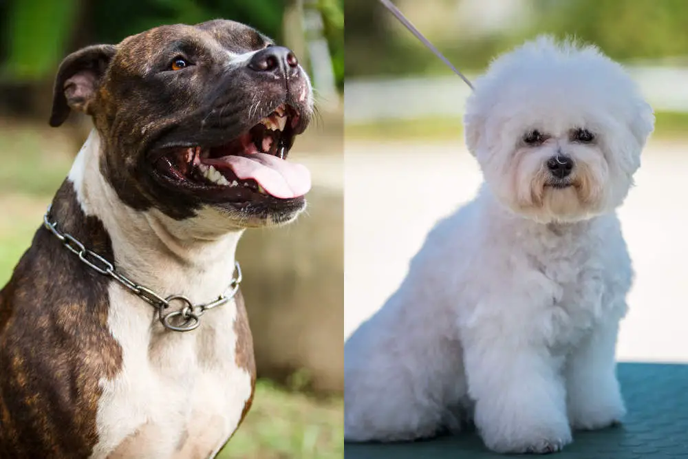
M 595 47 L 540 37 L 476 81 L 464 125 L 501 202 L 537 221 L 572 222 L 621 205 L 654 115 Z

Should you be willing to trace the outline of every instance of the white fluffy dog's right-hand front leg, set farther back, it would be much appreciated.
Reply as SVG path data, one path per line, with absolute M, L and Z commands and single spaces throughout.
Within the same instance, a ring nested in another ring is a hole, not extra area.
M 566 363 L 568 416 L 574 429 L 601 429 L 618 423 L 626 410 L 616 379 L 616 335 L 619 321 L 610 319 L 569 356 Z

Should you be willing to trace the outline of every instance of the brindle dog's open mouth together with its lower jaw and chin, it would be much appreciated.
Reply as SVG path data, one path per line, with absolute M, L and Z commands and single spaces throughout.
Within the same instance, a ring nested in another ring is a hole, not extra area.
M 169 193 L 214 206 L 244 228 L 286 224 L 305 209 L 310 190 L 308 169 L 287 160 L 301 131 L 299 111 L 279 105 L 224 143 L 151 152 L 152 173 Z

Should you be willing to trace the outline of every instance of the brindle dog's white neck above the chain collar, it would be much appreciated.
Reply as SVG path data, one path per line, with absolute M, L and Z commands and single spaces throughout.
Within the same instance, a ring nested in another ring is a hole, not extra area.
M 197 303 L 217 298 L 230 284 L 243 230 L 226 231 L 223 216 L 211 210 L 180 221 L 155 209 L 131 209 L 100 172 L 101 145 L 92 131 L 69 181 L 84 213 L 103 222 L 117 270 L 162 296 L 186 295 Z

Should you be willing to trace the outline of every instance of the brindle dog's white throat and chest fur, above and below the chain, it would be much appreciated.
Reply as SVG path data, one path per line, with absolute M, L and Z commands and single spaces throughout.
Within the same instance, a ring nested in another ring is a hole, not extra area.
M 227 219 L 212 209 L 181 222 L 133 211 L 100 175 L 99 154 L 93 131 L 69 180 L 83 211 L 103 222 L 118 269 L 162 295 L 196 303 L 217 298 L 233 274 L 242 230 L 222 229 Z M 251 393 L 250 375 L 236 363 L 235 302 L 206 312 L 197 330 L 179 333 L 162 330 L 155 310 L 119 284 L 108 295 L 108 326 L 122 348 L 122 368 L 100 381 L 92 458 L 215 456 Z

